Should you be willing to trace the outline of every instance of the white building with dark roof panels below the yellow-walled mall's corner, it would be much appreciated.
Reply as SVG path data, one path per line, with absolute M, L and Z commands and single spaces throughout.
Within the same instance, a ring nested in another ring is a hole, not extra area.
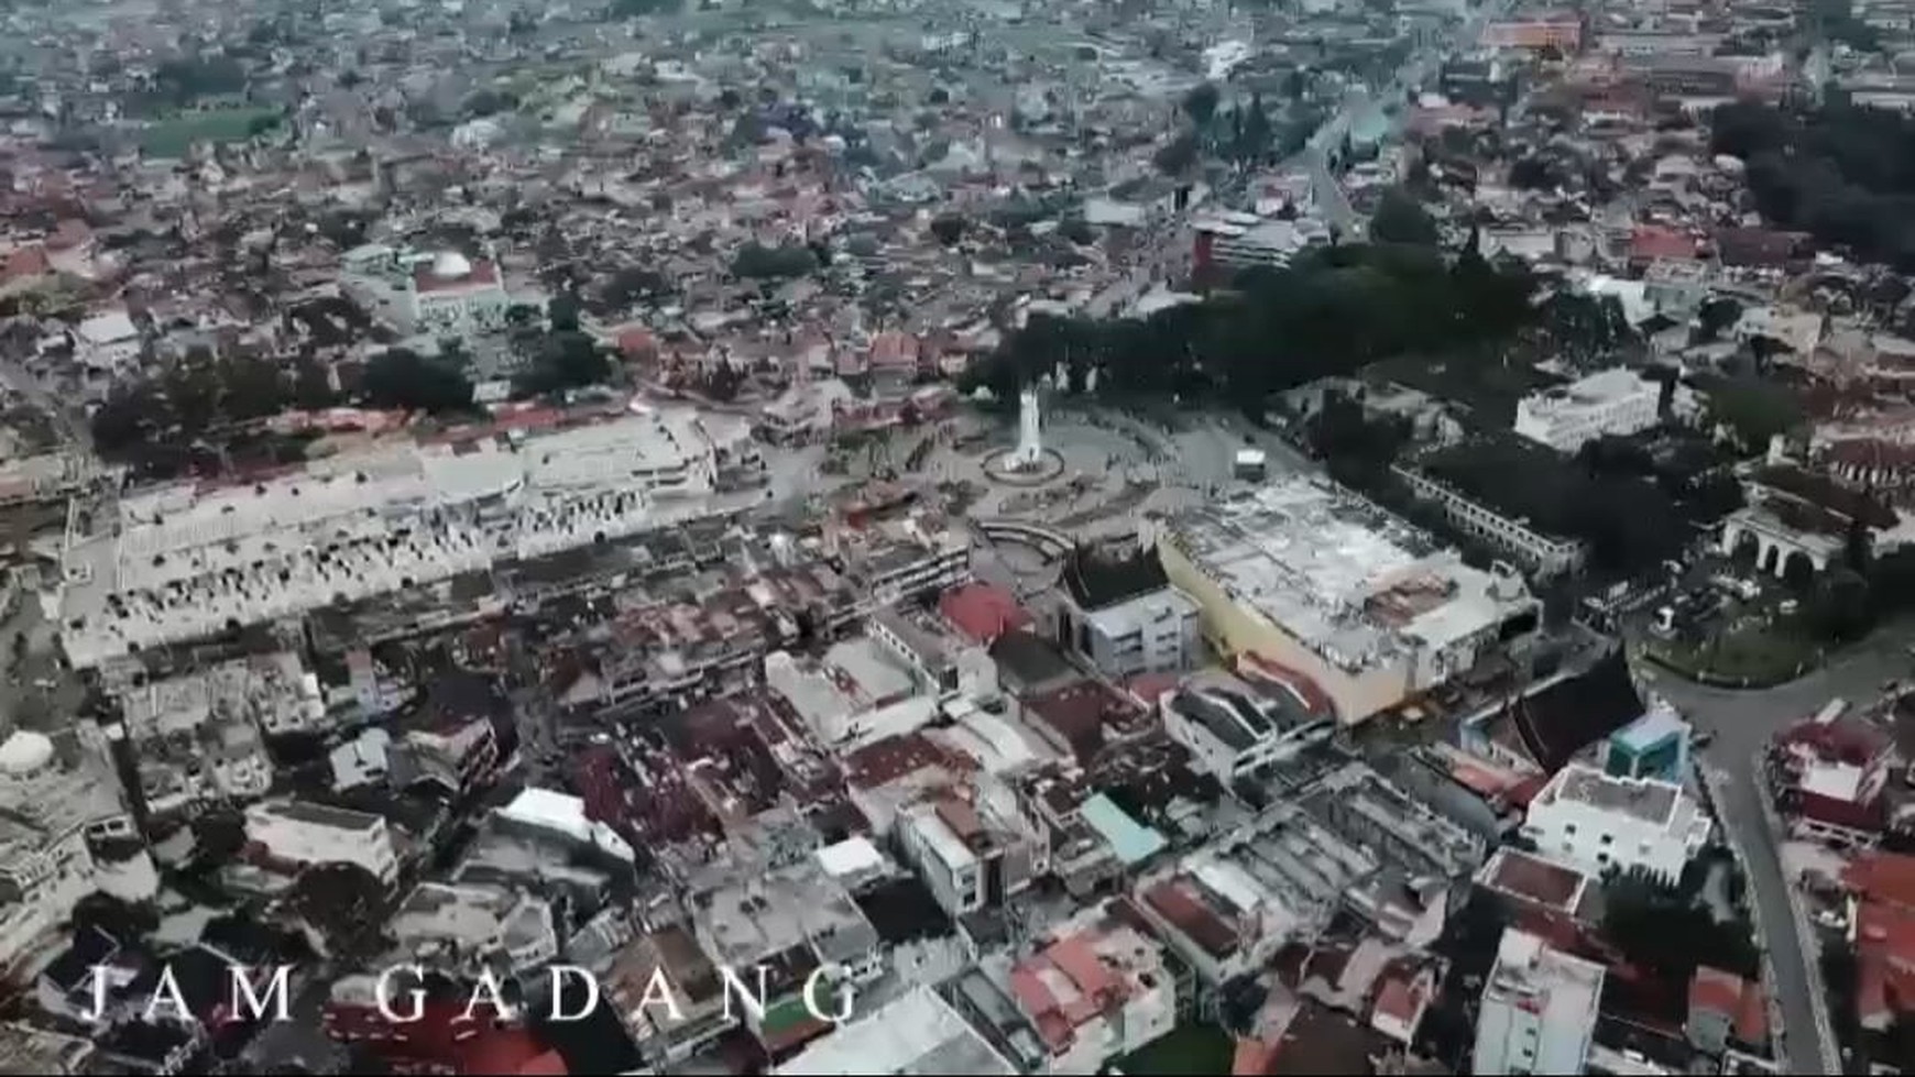
M 1199 675 L 1157 700 L 1164 733 L 1203 769 L 1231 780 L 1329 740 L 1337 723 L 1285 710 L 1277 696 L 1226 675 Z

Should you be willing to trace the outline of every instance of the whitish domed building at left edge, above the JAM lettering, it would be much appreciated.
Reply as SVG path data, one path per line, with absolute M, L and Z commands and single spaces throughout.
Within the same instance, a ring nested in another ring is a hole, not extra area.
M 19 731 L 0 744 L 0 968 L 94 891 L 147 901 L 159 874 L 103 758 Z

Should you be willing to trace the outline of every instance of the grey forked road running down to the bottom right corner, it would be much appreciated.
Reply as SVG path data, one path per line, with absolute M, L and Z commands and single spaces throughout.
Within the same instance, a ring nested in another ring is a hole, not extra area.
M 1789 882 L 1756 800 L 1764 796 L 1756 754 L 1779 729 L 1815 714 L 1831 698 L 1858 704 L 1875 700 L 1884 681 L 1907 675 L 1907 626 L 1882 629 L 1827 668 L 1756 692 L 1708 689 L 1645 668 L 1655 694 L 1681 710 L 1699 731 L 1716 736 L 1702 756 L 1706 765 L 1727 779 L 1720 790 L 1720 817 L 1748 855 L 1748 891 L 1756 897 L 1756 920 L 1775 968 L 1787 1050 L 1796 1073 L 1819 1069 L 1825 1054 L 1812 1000 L 1814 981 L 1789 903 Z

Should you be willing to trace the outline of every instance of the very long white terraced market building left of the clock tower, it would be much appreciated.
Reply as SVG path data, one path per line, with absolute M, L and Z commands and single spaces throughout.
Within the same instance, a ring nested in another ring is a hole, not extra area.
M 749 432 L 689 409 L 544 434 L 385 442 L 264 482 L 128 492 L 69 534 L 54 595 L 77 668 L 741 509 Z M 762 497 L 762 495 L 760 495 Z

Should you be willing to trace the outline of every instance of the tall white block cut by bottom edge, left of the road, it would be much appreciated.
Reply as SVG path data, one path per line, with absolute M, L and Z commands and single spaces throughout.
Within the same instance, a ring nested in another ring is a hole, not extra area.
M 1476 1012 L 1476 1073 L 1584 1073 L 1603 966 L 1509 928 Z

